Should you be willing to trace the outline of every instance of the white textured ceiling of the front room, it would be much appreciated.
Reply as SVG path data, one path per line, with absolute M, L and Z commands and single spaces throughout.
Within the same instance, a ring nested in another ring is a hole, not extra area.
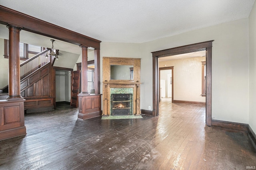
M 2 6 L 108 42 L 144 43 L 246 18 L 254 0 L 0 0 Z

